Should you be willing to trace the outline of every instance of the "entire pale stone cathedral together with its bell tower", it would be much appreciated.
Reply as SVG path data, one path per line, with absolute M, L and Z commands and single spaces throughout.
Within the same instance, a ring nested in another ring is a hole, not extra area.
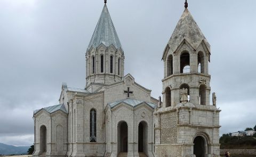
M 34 111 L 33 156 L 219 156 L 210 44 L 187 1 L 162 54 L 158 99 L 124 75 L 124 50 L 106 3 L 86 50 L 85 88 L 63 83 L 58 105 Z

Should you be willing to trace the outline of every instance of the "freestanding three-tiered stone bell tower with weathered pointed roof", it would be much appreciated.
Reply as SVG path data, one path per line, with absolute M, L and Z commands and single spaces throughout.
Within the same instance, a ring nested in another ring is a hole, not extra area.
M 193 16 L 185 10 L 167 43 L 163 105 L 155 111 L 157 156 L 219 156 L 219 112 L 210 105 L 211 49 Z

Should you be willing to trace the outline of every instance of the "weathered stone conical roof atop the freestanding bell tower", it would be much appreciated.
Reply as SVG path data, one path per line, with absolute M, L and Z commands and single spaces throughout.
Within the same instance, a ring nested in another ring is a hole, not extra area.
M 207 49 L 210 51 L 210 44 L 207 42 L 188 9 L 185 9 L 181 15 L 180 20 L 168 42 L 171 51 L 175 52 L 184 39 L 186 39 L 194 49 L 197 49 L 197 47 L 204 42 Z

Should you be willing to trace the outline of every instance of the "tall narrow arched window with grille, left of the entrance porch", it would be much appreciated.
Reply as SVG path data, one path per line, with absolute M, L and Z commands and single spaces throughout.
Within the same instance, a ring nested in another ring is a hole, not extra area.
M 97 142 L 96 140 L 96 111 L 90 111 L 90 142 Z

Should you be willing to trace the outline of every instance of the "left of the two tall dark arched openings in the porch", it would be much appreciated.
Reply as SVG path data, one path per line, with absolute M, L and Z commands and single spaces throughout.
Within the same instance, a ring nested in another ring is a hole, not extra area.
M 117 126 L 118 153 L 128 152 L 128 125 L 121 121 Z

